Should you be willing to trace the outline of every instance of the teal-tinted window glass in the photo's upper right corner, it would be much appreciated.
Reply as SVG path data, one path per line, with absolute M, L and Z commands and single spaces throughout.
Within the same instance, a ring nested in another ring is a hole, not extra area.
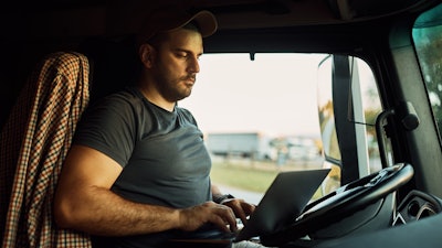
M 442 4 L 417 19 L 412 39 L 439 133 L 442 133 Z

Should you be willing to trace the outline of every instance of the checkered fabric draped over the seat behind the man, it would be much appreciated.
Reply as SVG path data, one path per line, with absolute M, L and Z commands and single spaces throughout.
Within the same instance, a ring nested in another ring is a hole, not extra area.
M 3 248 L 90 248 L 85 234 L 60 229 L 53 195 L 76 123 L 88 104 L 87 58 L 48 56 L 22 89 L 0 136 L 0 230 Z

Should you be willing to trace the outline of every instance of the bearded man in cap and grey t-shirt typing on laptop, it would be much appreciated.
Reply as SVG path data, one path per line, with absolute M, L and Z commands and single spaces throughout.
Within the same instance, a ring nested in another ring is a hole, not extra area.
M 235 218 L 254 211 L 211 185 L 202 133 L 177 106 L 196 83 L 213 14 L 169 10 L 146 23 L 136 87 L 83 117 L 55 194 L 57 225 L 90 233 L 101 247 L 158 247 L 207 225 L 235 231 Z

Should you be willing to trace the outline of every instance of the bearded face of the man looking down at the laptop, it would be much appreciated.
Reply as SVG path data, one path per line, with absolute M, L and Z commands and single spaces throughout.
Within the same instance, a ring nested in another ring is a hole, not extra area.
M 201 34 L 185 29 L 170 32 L 169 39 L 156 50 L 152 73 L 161 96 L 170 103 L 188 97 L 200 71 Z

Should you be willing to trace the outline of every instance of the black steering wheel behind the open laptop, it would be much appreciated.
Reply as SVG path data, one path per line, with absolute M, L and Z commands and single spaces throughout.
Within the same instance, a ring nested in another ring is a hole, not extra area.
M 372 173 L 308 204 L 294 223 L 274 234 L 261 236 L 265 246 L 281 246 L 312 234 L 372 204 L 413 176 L 413 168 L 398 163 Z

